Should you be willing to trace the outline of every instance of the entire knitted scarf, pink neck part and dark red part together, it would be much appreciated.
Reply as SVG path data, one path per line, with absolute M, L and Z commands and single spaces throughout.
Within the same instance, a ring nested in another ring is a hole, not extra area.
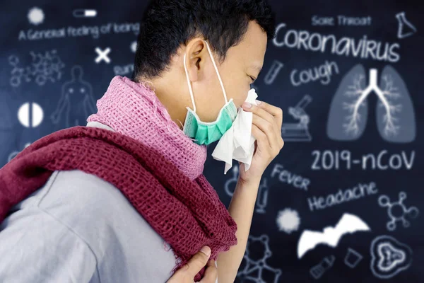
M 236 245 L 237 224 L 200 171 L 206 146 L 185 136 L 152 93 L 143 83 L 116 76 L 98 100 L 98 114 L 88 118 L 116 132 L 83 126 L 61 129 L 6 163 L 0 169 L 0 221 L 54 171 L 78 169 L 122 192 L 169 244 L 176 258 L 172 272 L 203 246 L 211 248 L 211 259 L 216 260 L 218 253 Z M 200 161 L 192 159 L 196 157 Z M 204 277 L 205 270 L 194 280 Z

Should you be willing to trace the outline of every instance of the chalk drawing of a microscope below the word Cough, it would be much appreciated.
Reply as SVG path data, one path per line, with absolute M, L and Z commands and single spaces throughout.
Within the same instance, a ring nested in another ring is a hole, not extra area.
M 284 141 L 312 141 L 309 132 L 310 117 L 305 112 L 305 108 L 312 101 L 309 95 L 303 96 L 295 107 L 288 108 L 288 113 L 292 115 L 298 123 L 283 123 L 281 126 L 281 137 Z

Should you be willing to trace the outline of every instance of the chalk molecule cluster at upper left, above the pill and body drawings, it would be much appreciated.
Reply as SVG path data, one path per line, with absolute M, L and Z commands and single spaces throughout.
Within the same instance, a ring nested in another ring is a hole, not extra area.
M 46 51 L 45 54 L 30 52 L 32 63 L 30 66 L 19 67 L 19 58 L 16 55 L 8 57 L 9 64 L 13 67 L 10 83 L 13 87 L 20 86 L 23 80 L 26 83 L 35 81 L 38 86 L 44 86 L 47 81 L 55 83 L 61 79 L 61 69 L 65 64 L 61 61 L 56 50 Z

